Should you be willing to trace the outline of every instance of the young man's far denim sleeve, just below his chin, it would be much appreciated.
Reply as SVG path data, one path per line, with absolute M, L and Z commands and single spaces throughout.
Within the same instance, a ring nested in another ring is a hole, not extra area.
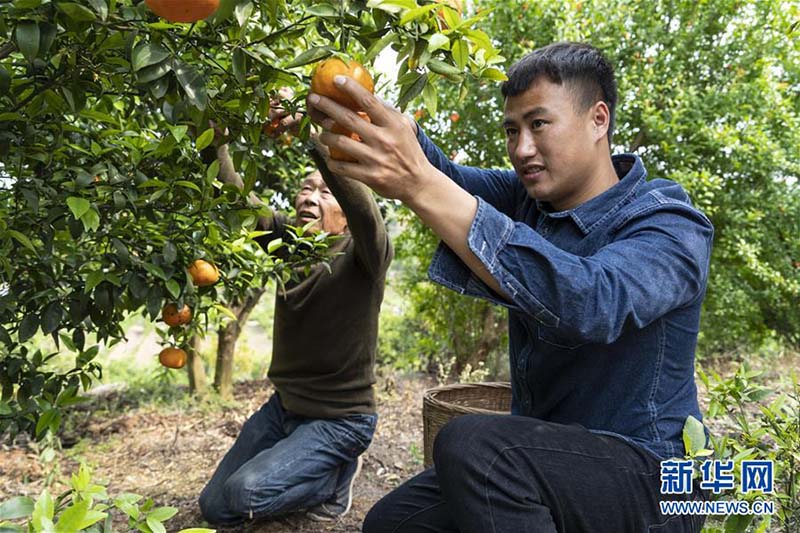
M 470 194 L 480 196 L 501 213 L 514 216 L 525 190 L 513 170 L 482 169 L 457 165 L 447 157 L 421 127 L 417 129 L 417 140 L 428 161 L 444 172 Z

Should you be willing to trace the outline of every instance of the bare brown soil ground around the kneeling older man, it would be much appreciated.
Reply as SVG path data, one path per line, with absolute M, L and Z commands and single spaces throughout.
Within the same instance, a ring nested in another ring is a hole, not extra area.
M 354 489 L 353 508 L 339 522 L 321 524 L 302 514 L 256 522 L 236 529 L 253 533 L 321 533 L 361 531 L 367 511 L 401 481 L 422 470 L 422 395 L 435 386 L 427 377 L 389 378 L 379 383 L 379 422 Z M 124 395 L 124 392 L 121 393 Z M 87 411 L 65 434 L 67 444 L 82 441 L 76 451 L 60 454 L 61 478 L 85 461 L 95 479 L 108 483 L 112 496 L 134 492 L 171 505 L 179 513 L 165 523 L 168 531 L 204 524 L 197 496 L 217 462 L 233 444 L 241 425 L 272 394 L 263 381 L 238 383 L 235 402 L 222 410 L 182 410 L 153 406 L 124 409 L 108 417 Z M 76 435 L 77 434 L 77 435 Z M 45 472 L 26 443 L 0 446 L 0 501 L 17 495 L 34 499 Z M 56 485 L 58 494 L 65 487 Z M 120 524 L 124 530 L 124 524 Z

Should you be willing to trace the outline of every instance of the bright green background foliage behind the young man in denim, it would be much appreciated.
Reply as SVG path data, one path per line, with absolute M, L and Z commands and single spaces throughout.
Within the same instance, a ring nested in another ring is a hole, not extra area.
M 800 346 L 800 4 L 753 0 L 477 2 L 484 30 L 508 58 L 560 40 L 599 47 L 619 83 L 614 152 L 639 154 L 650 177 L 681 183 L 715 227 L 700 354 L 747 353 L 766 341 Z M 459 162 L 509 167 L 496 84 L 443 89 L 438 113 L 417 110 L 427 133 Z M 436 240 L 413 217 L 398 257 L 418 261 L 404 288 L 419 340 L 409 354 L 468 360 L 471 340 L 505 349 L 503 311 L 483 316 L 432 287 Z M 454 306 L 459 307 L 452 315 Z M 460 315 L 461 311 L 465 315 Z M 434 339 L 433 341 L 431 339 Z M 432 346 L 431 343 L 435 343 Z M 461 343 L 461 346 L 458 343 Z M 407 357 L 407 358 L 408 358 Z M 400 357 L 400 359 L 403 359 Z M 502 365 L 500 365 L 502 368 Z

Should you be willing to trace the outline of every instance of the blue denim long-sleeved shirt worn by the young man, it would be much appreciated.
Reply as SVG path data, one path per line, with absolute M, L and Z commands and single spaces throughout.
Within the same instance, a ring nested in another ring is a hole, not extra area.
M 437 168 L 478 199 L 472 252 L 510 302 L 444 244 L 430 278 L 508 308 L 512 414 L 684 455 L 713 227 L 677 183 L 613 156 L 619 183 L 567 211 L 530 198 L 513 170 L 452 163 L 420 129 Z

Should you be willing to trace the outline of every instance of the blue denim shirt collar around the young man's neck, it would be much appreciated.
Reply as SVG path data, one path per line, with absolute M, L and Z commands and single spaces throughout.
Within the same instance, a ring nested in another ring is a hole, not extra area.
M 578 207 L 566 211 L 553 211 L 549 203 L 537 201 L 539 211 L 550 218 L 570 217 L 584 235 L 591 233 L 600 223 L 628 203 L 647 177 L 647 171 L 638 155 L 614 155 L 611 157 L 611 162 L 617 176 L 620 176 L 619 183 Z

